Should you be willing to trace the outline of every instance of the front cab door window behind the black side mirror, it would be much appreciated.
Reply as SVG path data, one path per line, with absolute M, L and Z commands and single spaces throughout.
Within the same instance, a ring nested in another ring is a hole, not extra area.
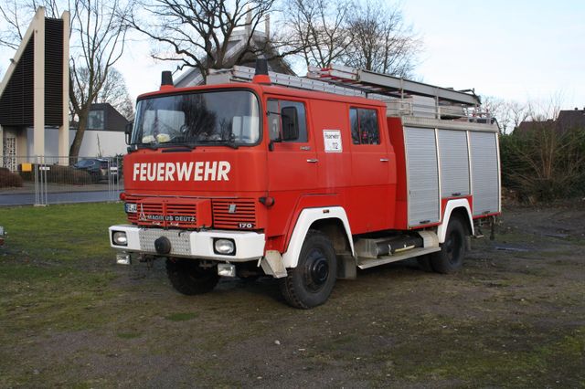
M 268 121 L 272 141 L 307 142 L 307 119 L 302 102 L 268 100 Z

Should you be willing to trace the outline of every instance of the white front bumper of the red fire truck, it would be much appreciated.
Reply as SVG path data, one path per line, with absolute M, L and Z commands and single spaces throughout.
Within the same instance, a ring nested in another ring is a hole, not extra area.
M 113 248 L 131 253 L 158 255 L 154 249 L 154 240 L 167 237 L 171 242 L 169 257 L 215 259 L 227 262 L 246 262 L 258 260 L 264 256 L 266 243 L 264 234 L 247 231 L 184 231 L 177 229 L 141 228 L 132 225 L 111 226 L 110 245 Z M 115 231 L 126 233 L 128 244 L 116 245 L 112 241 Z M 236 244 L 235 255 L 217 254 L 213 249 L 214 239 L 233 239 Z

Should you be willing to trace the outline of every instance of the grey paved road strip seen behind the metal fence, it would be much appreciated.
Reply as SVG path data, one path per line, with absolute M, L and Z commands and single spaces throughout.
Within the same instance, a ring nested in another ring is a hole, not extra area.
M 48 204 L 63 203 L 94 203 L 100 201 L 116 201 L 118 194 L 110 191 L 91 192 L 60 192 L 47 194 Z M 0 195 L 0 206 L 3 205 L 34 205 L 35 194 Z

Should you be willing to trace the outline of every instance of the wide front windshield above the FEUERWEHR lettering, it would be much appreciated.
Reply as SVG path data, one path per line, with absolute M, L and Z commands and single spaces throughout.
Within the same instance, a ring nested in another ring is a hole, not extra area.
M 138 101 L 133 144 L 254 144 L 256 96 L 249 90 L 199 92 Z

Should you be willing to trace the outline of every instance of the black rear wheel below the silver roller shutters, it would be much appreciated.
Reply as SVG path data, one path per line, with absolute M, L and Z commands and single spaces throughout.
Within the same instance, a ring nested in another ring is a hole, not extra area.
M 449 274 L 463 266 L 465 257 L 465 227 L 461 219 L 452 217 L 447 226 L 441 251 L 431 254 L 431 266 L 437 273 Z

